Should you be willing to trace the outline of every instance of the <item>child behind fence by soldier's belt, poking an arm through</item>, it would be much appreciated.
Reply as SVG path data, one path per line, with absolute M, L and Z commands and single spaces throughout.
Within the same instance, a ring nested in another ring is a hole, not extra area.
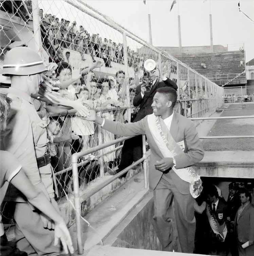
M 48 132 L 48 139 L 49 139 L 50 163 L 54 168 L 54 170 L 56 170 L 57 162 L 58 162 L 56 148 L 58 146 L 58 143 L 67 141 L 69 139 L 76 140 L 76 139 L 79 139 L 79 136 L 75 133 L 58 136 L 61 132 L 60 122 L 55 118 L 52 118 L 50 120 L 50 123 L 48 124 L 47 132 Z

